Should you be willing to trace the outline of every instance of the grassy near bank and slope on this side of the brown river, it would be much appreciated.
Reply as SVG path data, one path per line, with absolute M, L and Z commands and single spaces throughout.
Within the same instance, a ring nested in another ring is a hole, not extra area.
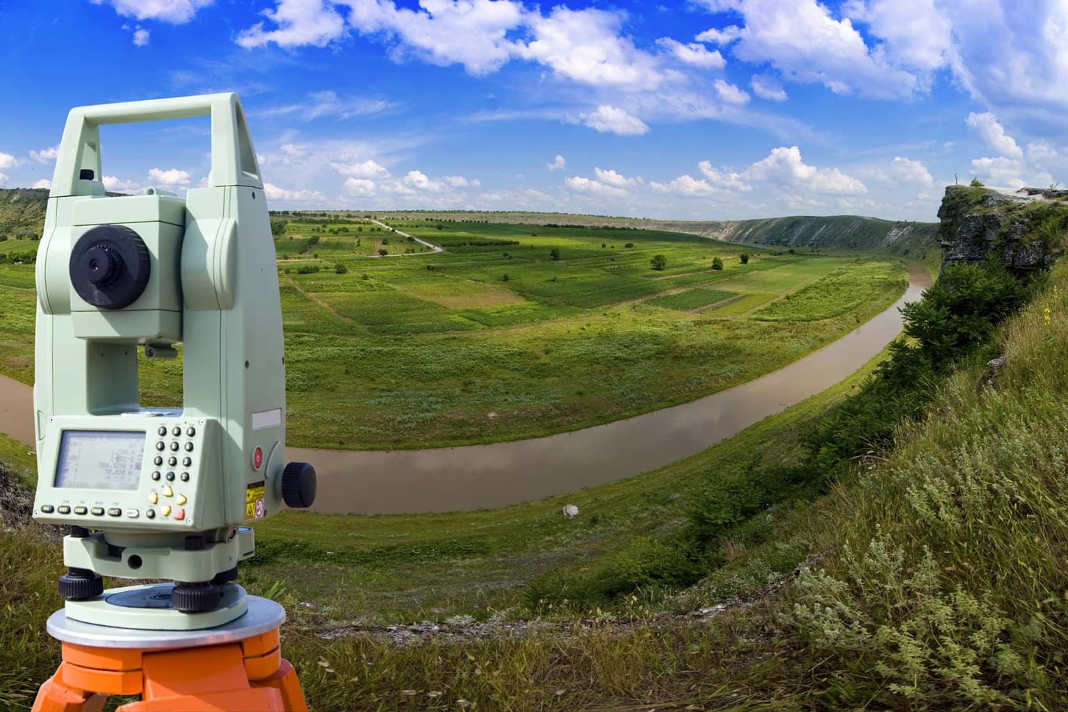
M 802 456 L 863 374 L 689 460 L 571 497 L 418 520 L 280 516 L 257 528 L 242 581 L 286 604 L 283 645 L 319 710 L 1064 709 L 1066 289 L 1062 265 L 931 384 L 926 414 L 826 494 L 755 503 L 689 588 L 649 581 L 576 611 L 523 580 L 604 561 L 640 580 L 710 484 L 744 495 L 735 476 L 758 474 L 755 456 L 758 468 Z M 1003 364 L 986 365 L 990 353 Z M 579 518 L 561 517 L 563 502 Z M 0 544 L 0 605 L 20 613 L 0 627 L 10 707 L 56 664 L 41 623 L 60 570 L 38 531 Z

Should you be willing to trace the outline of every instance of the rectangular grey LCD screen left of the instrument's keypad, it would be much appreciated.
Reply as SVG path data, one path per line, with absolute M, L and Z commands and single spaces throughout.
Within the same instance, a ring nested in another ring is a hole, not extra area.
M 56 487 L 136 490 L 144 437 L 144 431 L 64 430 Z

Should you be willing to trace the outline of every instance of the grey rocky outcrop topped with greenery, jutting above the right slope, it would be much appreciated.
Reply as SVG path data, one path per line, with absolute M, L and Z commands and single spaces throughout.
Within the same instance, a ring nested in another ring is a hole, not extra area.
M 949 186 L 938 217 L 942 269 L 990 256 L 1017 271 L 1045 269 L 1064 248 L 1068 191 Z

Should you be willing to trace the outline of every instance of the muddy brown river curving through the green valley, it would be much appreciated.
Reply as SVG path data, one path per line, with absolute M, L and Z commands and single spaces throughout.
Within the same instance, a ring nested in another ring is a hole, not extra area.
M 661 468 L 834 385 L 901 331 L 899 308 L 930 276 L 914 269 L 893 306 L 788 366 L 697 400 L 547 438 L 422 450 L 287 448 L 315 465 L 320 512 L 440 512 L 504 507 Z M 31 389 L 0 377 L 0 431 L 34 441 Z M 32 446 L 32 445 L 31 445 Z

